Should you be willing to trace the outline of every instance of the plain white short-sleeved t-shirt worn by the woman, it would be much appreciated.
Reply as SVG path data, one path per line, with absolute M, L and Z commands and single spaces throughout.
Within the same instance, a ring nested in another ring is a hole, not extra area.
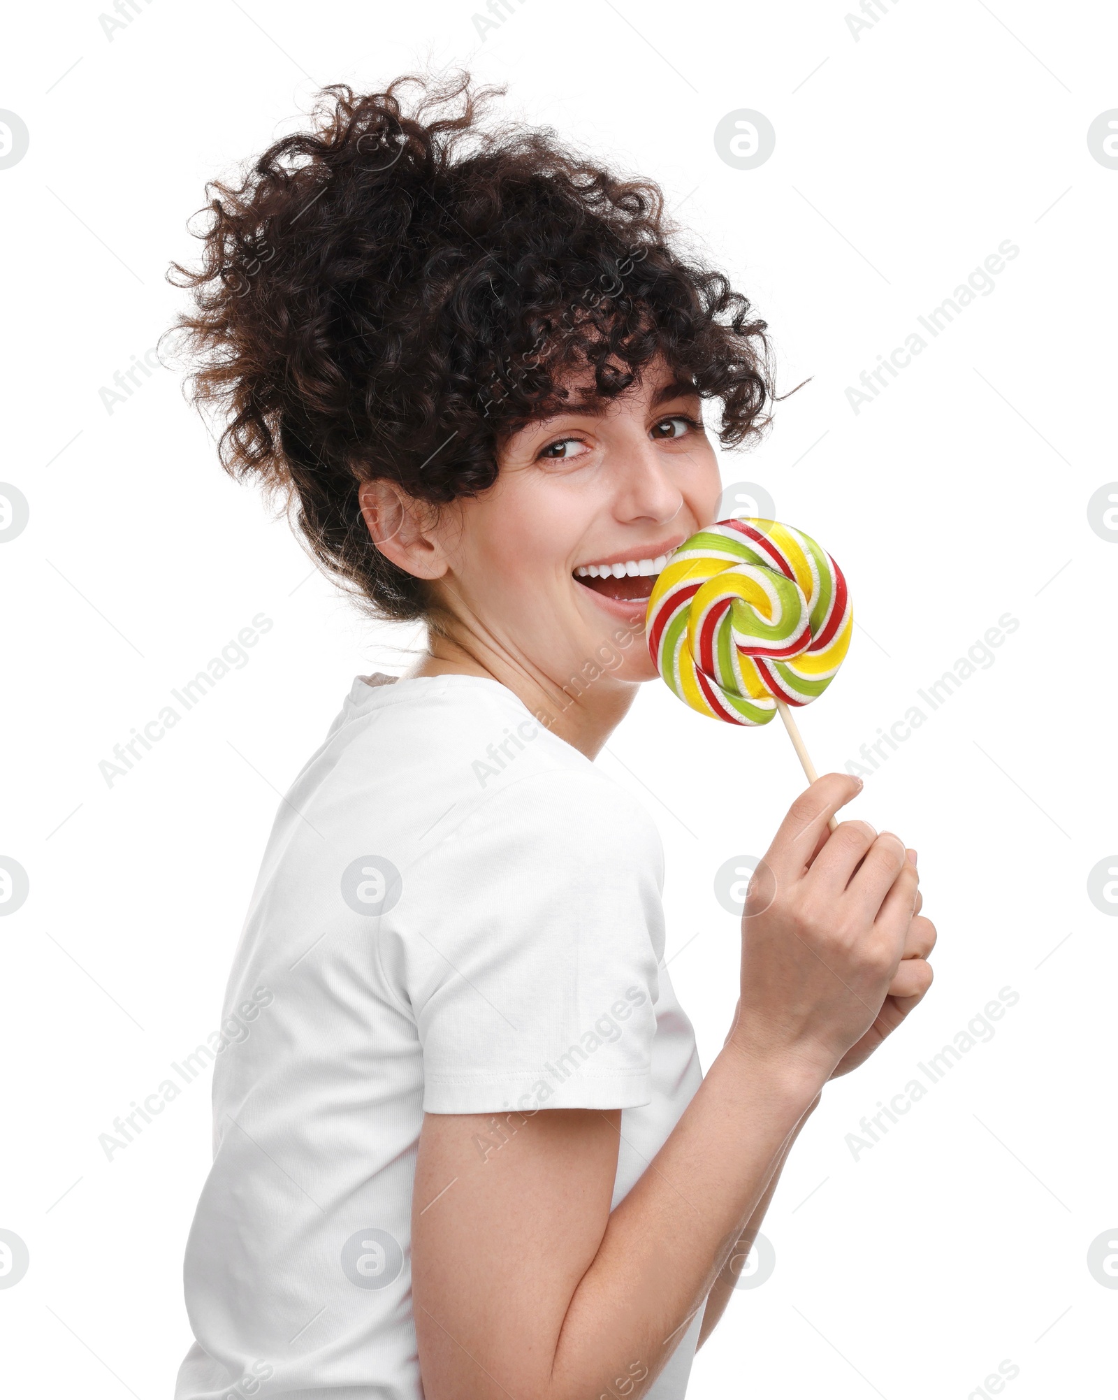
M 662 883 L 644 809 L 505 686 L 354 682 L 225 993 L 176 1400 L 420 1400 L 424 1112 L 623 1109 L 625 1196 L 701 1082 Z M 700 1322 L 655 1400 L 683 1397 Z

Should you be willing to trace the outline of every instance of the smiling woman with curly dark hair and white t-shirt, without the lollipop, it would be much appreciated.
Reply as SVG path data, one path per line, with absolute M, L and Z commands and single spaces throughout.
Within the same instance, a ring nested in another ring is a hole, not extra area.
M 595 766 L 655 574 L 715 518 L 765 323 L 655 185 L 486 129 L 466 78 L 326 90 L 178 267 L 222 461 L 427 624 L 276 818 L 225 1015 L 178 1400 L 681 1397 L 826 1082 L 928 990 L 915 853 L 792 806 L 700 1071 L 662 850 Z M 409 115 L 410 112 L 410 115 Z M 590 566 L 596 566 L 590 570 Z M 623 567 L 618 567 L 623 566 Z

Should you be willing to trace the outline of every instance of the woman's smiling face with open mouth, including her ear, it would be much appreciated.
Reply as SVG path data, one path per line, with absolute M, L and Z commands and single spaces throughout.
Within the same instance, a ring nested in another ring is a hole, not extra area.
M 652 679 L 648 596 L 721 496 L 695 391 L 653 363 L 613 400 L 530 423 L 498 465 L 439 531 L 435 587 L 458 623 L 557 686 Z

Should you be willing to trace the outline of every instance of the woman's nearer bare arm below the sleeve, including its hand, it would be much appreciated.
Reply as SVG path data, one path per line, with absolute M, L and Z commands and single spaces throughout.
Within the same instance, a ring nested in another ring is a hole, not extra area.
M 903 844 L 859 822 L 827 834 L 856 791 L 821 778 L 781 826 L 743 920 L 736 1025 L 616 1210 L 620 1110 L 425 1117 L 411 1263 L 427 1400 L 630 1397 L 663 1368 L 905 951 Z

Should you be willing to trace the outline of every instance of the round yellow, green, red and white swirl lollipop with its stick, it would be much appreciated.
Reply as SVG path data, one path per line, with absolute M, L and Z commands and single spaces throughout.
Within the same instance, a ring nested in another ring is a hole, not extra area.
M 768 724 L 779 713 L 810 783 L 817 774 L 788 707 L 823 694 L 852 629 L 842 570 L 778 521 L 701 529 L 648 599 L 648 650 L 680 700 L 728 724 Z

